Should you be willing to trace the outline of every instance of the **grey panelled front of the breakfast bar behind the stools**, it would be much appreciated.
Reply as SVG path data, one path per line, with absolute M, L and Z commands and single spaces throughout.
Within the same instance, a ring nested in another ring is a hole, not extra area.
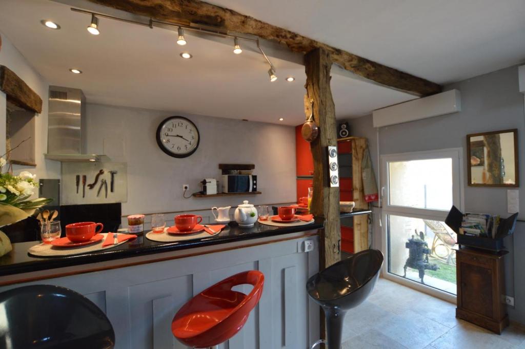
M 17 282 L 0 287 L 0 291 L 28 284 L 67 287 L 86 295 L 106 312 L 116 333 L 116 348 L 185 348 L 171 333 L 176 311 L 215 282 L 256 269 L 265 275 L 259 305 L 243 330 L 220 348 L 304 349 L 319 338 L 319 307 L 308 300 L 304 286 L 318 271 L 316 232 L 253 239 L 249 245 L 230 242 L 183 250 L 176 258 L 176 252 L 164 252 L 89 265 L 99 271 L 82 269 L 87 266 L 48 270 L 61 277 L 37 280 L 31 276 L 26 280 L 37 281 Z M 314 241 L 314 250 L 298 252 L 300 241 L 307 239 Z M 24 274 L 16 277 L 24 280 Z M 250 288 L 236 290 L 249 292 Z

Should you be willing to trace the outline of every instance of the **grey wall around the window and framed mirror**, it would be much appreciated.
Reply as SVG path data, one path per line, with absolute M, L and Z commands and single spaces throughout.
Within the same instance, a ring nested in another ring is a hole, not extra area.
M 524 96 L 518 90 L 518 67 L 510 67 L 465 81 L 450 84 L 445 90 L 461 91 L 461 112 L 440 117 L 386 126 L 379 130 L 380 154 L 461 147 L 466 158 L 466 135 L 484 131 L 518 129 L 519 167 L 521 173 L 520 219 L 525 220 L 525 114 Z M 372 148 L 377 142 L 372 117 L 351 119 L 351 134 L 365 136 Z M 377 157 L 374 170 L 377 175 Z M 465 210 L 500 214 L 507 217 L 507 190 L 467 185 L 464 164 Z M 377 229 L 377 227 L 376 227 Z M 374 236 L 381 236 L 374 231 Z M 507 294 L 514 296 L 515 308 L 509 309 L 512 320 L 525 323 L 525 223 L 519 222 L 513 237 L 507 238 L 510 254 L 506 258 Z M 516 266 L 516 268 L 514 268 Z

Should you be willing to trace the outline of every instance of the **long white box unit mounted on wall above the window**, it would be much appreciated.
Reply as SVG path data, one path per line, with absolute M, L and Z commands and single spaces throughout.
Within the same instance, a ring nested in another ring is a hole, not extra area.
M 374 127 L 383 127 L 458 111 L 461 111 L 461 93 L 450 90 L 374 110 L 372 120 Z

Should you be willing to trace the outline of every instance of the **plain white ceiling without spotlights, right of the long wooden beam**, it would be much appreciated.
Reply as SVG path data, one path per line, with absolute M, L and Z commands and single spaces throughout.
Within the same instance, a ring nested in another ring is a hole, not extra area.
M 525 61 L 524 0 L 207 0 L 437 83 Z

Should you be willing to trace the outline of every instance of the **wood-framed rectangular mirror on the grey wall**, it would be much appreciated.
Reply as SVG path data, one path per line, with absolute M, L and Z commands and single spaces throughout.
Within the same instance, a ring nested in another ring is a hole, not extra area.
M 518 130 L 467 135 L 468 185 L 519 186 Z

